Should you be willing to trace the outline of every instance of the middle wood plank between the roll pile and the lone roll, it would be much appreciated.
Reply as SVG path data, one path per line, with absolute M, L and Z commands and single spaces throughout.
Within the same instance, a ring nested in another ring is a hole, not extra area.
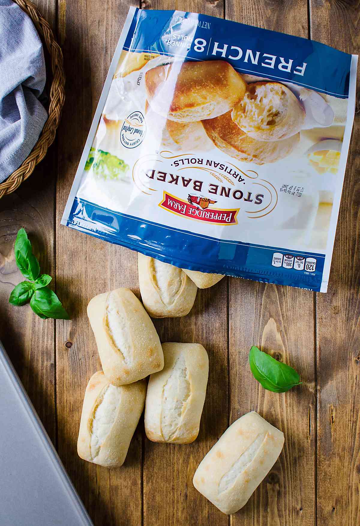
M 146 0 L 154 9 L 174 9 L 166 0 Z M 222 2 L 177 2 L 179 11 L 223 16 Z M 185 318 L 154 321 L 162 342 L 198 342 L 209 356 L 209 380 L 199 436 L 188 445 L 158 444 L 145 438 L 144 526 L 228 524 L 228 517 L 193 486 L 194 472 L 228 426 L 227 278 L 198 290 Z

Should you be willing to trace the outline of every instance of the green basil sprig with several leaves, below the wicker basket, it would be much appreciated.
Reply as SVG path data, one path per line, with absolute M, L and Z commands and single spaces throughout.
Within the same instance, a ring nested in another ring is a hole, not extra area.
M 9 303 L 21 306 L 30 301 L 31 309 L 40 318 L 68 320 L 68 313 L 62 307 L 59 298 L 47 287 L 51 276 L 40 274 L 39 262 L 33 254 L 33 248 L 24 228 L 20 228 L 17 232 L 14 252 L 16 265 L 29 281 L 22 281 L 16 285 L 10 294 Z

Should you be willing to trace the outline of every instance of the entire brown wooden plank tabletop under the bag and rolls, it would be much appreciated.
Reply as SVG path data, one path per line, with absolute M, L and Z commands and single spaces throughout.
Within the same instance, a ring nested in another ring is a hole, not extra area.
M 200 342 L 209 382 L 198 439 L 147 440 L 143 419 L 123 467 L 77 456 L 84 389 L 101 368 L 86 306 L 117 287 L 139 295 L 136 255 L 60 225 L 60 218 L 131 0 L 37 0 L 58 34 L 67 75 L 55 144 L 19 190 L 0 200 L 0 339 L 97 526 L 355 526 L 360 524 L 360 115 L 355 115 L 329 292 L 225 278 L 199 290 L 185 318 L 156 320 L 161 341 Z M 138 5 L 138 4 L 136 4 Z M 358 0 L 144 0 L 360 50 Z M 358 106 L 357 106 L 358 107 Z M 357 109 L 358 111 L 358 109 Z M 7 304 L 22 279 L 13 257 L 25 226 L 71 320 L 42 321 Z M 290 362 L 304 382 L 264 391 L 248 367 L 251 345 Z M 285 434 L 279 460 L 230 518 L 192 484 L 205 453 L 243 413 Z

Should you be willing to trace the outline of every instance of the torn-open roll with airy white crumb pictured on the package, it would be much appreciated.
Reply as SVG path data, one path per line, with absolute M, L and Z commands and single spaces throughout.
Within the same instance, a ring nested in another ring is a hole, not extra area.
M 291 89 L 279 82 L 249 84 L 234 107 L 232 120 L 258 140 L 286 139 L 297 134 L 305 119 L 304 108 Z

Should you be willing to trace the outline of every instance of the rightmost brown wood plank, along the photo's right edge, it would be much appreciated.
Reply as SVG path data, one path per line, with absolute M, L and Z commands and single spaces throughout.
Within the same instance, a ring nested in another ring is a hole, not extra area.
M 312 38 L 359 53 L 358 5 L 310 4 Z M 329 292 L 317 295 L 317 523 L 327 526 L 360 523 L 358 105 L 357 98 Z

